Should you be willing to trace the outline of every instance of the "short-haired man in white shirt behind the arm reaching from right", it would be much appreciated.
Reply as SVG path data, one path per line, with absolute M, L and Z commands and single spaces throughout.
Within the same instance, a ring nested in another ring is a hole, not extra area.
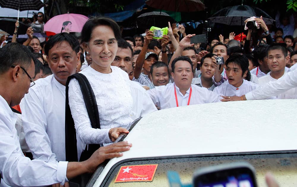
M 289 60 L 287 49 L 281 45 L 273 45 L 268 47 L 268 67 L 271 70 L 268 75 L 259 78 L 260 86 L 265 85 L 270 81 L 276 81 L 285 75 L 286 61 Z M 295 99 L 297 96 L 296 88 L 292 88 L 284 93 L 278 94 L 277 99 Z

